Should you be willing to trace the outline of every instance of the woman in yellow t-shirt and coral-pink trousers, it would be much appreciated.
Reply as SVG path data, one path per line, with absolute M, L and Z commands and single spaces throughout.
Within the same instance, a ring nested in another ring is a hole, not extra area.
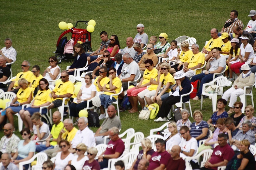
M 146 70 L 144 71 L 143 78 L 140 80 L 139 84 L 136 85 L 136 87 L 127 90 L 127 96 L 132 106 L 129 113 L 138 112 L 138 94 L 145 90 L 147 86 L 150 86 L 153 78 L 157 76 L 157 69 L 154 67 L 153 61 L 151 59 L 147 59 L 144 61 L 144 63 Z M 141 106 L 144 107 L 144 103 L 144 99 L 143 102 L 140 100 Z

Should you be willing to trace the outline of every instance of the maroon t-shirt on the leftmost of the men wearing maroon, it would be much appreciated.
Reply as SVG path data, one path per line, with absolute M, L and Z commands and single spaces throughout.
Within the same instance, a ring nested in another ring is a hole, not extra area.
M 115 154 L 116 152 L 120 153 L 120 156 L 123 154 L 125 150 L 125 143 L 122 139 L 118 139 L 116 141 L 109 141 L 108 146 L 105 151 L 105 155 Z

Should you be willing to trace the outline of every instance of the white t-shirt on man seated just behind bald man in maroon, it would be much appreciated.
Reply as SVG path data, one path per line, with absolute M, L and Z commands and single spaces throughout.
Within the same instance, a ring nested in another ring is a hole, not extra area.
M 189 141 L 186 141 L 184 138 L 181 138 L 181 143 L 179 144 L 179 146 L 181 147 L 181 150 L 183 152 L 190 152 L 191 149 L 194 149 L 194 155 L 196 156 L 197 153 L 197 140 L 195 138 L 191 138 Z M 183 153 L 180 153 L 180 157 L 182 157 L 183 159 L 186 158 L 187 156 L 184 155 Z

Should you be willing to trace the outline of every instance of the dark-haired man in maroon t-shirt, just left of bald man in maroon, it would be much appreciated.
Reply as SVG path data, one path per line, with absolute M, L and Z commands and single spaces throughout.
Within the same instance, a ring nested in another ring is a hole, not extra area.
M 164 170 L 171 158 L 171 155 L 165 150 L 165 141 L 163 139 L 157 139 L 155 141 L 156 152 L 154 152 L 150 159 L 150 165 L 148 170 Z

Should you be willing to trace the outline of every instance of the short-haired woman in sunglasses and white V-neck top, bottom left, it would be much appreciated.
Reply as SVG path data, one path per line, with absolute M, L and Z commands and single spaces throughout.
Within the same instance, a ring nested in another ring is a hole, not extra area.
M 70 143 L 67 140 L 62 139 L 59 142 L 59 147 L 61 152 L 58 152 L 56 155 L 54 170 L 63 170 L 67 165 L 71 165 L 71 160 L 74 157 L 74 155 L 69 152 Z

